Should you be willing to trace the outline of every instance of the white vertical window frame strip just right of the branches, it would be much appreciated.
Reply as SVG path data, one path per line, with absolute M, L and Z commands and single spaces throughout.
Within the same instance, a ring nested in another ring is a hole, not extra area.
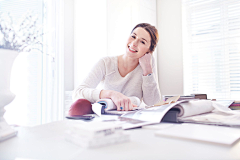
M 44 1 L 42 123 L 64 116 L 64 0 Z

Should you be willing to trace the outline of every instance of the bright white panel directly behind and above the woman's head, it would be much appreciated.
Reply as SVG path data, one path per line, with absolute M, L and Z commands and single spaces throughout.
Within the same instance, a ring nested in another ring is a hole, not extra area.
M 125 53 L 127 39 L 138 23 L 156 25 L 156 0 L 108 0 L 108 55 Z

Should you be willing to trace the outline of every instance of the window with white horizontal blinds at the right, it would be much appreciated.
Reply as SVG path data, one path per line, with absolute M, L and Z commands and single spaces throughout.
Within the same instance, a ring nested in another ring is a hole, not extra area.
M 240 1 L 183 0 L 184 94 L 239 99 Z

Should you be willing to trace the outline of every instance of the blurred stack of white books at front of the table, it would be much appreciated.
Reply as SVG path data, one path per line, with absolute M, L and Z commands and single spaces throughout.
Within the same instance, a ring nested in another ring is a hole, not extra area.
M 65 139 L 84 148 L 96 148 L 129 141 L 130 135 L 125 132 L 121 125 L 108 122 L 72 123 Z

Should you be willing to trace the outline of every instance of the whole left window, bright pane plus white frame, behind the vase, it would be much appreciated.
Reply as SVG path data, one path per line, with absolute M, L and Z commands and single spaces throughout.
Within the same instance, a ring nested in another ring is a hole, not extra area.
M 63 0 L 2 0 L 0 12 L 16 22 L 31 13 L 42 26 L 43 47 L 22 52 L 11 77 L 15 99 L 5 107 L 10 124 L 34 126 L 63 118 Z

